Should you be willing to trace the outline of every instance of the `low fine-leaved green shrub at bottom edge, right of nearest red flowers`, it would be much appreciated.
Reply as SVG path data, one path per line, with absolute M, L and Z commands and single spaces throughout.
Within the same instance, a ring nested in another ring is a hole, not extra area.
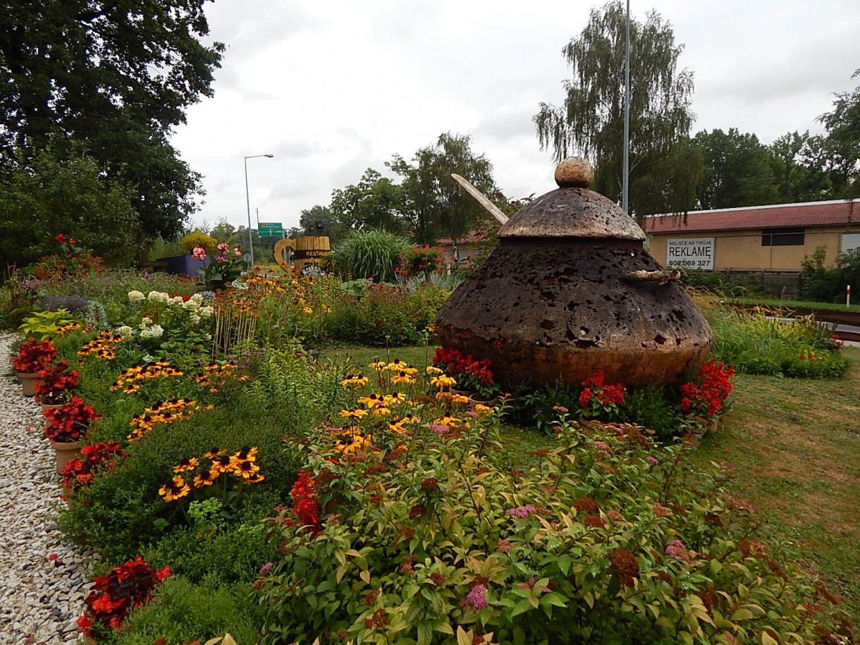
M 229 632 L 238 645 L 254 645 L 260 620 L 261 609 L 249 586 L 195 585 L 181 575 L 171 575 L 157 587 L 150 602 L 131 611 L 124 629 L 104 642 L 152 645 L 163 638 L 167 645 L 180 645 L 199 639 L 206 642 Z

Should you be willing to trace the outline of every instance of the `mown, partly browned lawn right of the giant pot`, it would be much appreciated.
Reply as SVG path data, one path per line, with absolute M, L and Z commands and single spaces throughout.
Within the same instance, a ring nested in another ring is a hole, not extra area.
M 860 348 L 838 381 L 734 378 L 734 407 L 694 463 L 723 460 L 729 488 L 796 539 L 798 555 L 860 616 Z

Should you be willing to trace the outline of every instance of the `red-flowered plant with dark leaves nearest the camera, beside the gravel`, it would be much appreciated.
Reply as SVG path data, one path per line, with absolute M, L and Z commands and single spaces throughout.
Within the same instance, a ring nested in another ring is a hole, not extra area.
M 152 568 L 137 556 L 106 576 L 94 578 L 83 601 L 87 609 L 77 619 L 83 634 L 100 638 L 119 630 L 128 612 L 149 602 L 157 584 L 169 575 L 169 567 Z

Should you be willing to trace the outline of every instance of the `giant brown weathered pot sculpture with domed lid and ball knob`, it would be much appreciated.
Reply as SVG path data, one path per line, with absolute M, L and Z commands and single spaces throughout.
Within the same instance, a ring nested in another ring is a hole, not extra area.
M 704 364 L 708 323 L 591 179 L 586 161 L 564 160 L 559 188 L 501 227 L 436 316 L 443 347 L 490 359 L 498 381 L 535 385 L 598 370 L 607 383 L 668 384 Z

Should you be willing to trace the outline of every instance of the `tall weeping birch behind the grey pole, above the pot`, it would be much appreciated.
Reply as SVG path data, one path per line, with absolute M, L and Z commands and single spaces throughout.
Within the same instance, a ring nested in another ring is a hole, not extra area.
M 573 72 L 560 107 L 541 103 L 533 121 L 556 161 L 576 153 L 595 165 L 592 187 L 617 200 L 623 183 L 624 40 L 622 3 L 593 9 L 579 37 L 562 49 Z M 630 19 L 630 210 L 636 217 L 683 212 L 702 163 L 686 140 L 693 121 L 691 71 L 678 70 L 683 45 L 654 11 Z

